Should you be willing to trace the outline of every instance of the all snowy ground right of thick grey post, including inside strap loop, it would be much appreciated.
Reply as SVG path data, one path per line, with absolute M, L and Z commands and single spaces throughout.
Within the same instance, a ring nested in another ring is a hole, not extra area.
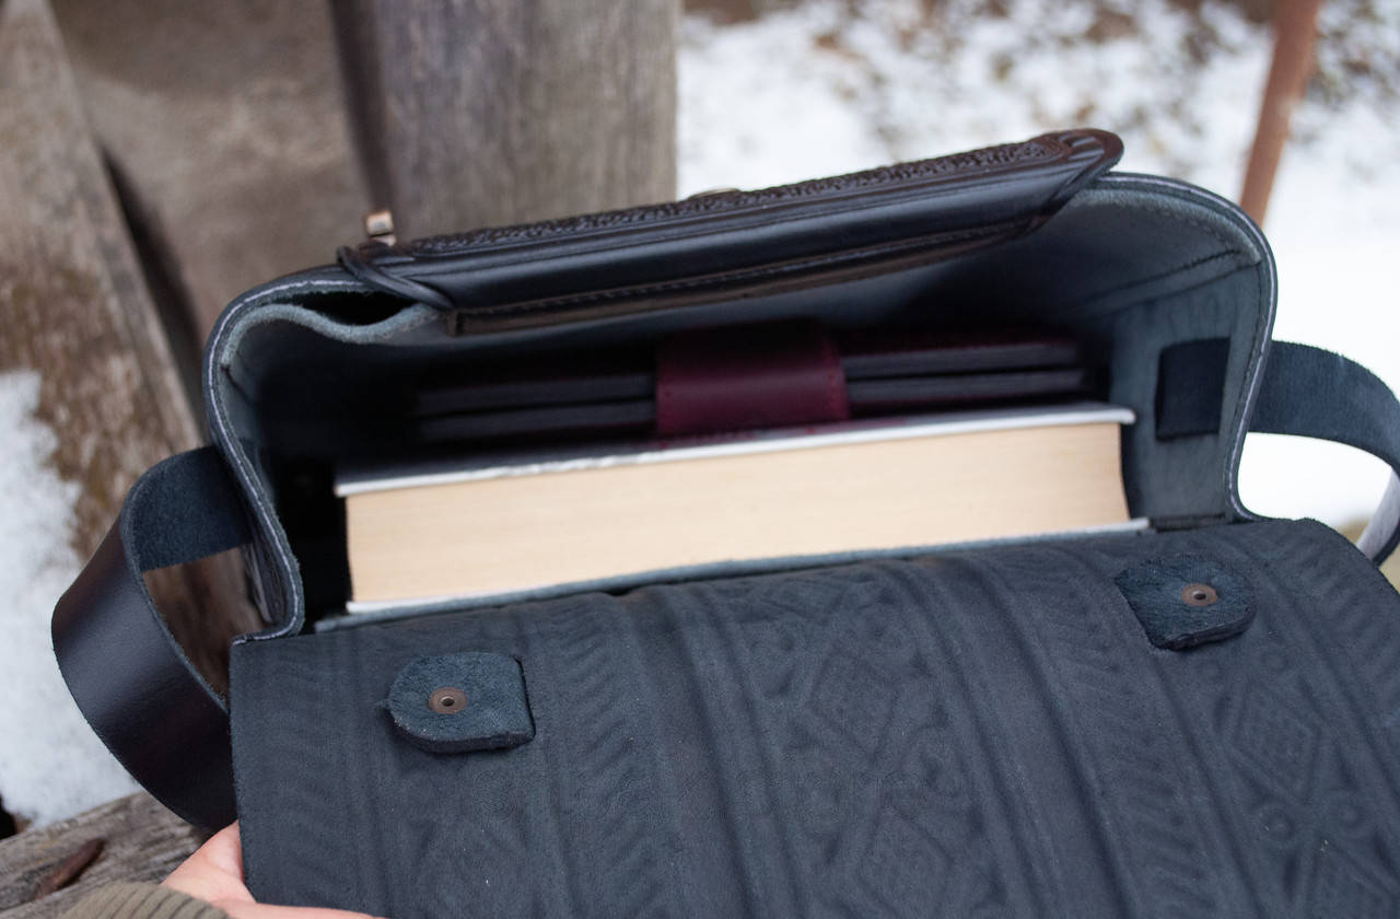
M 1238 195 L 1273 41 L 1235 7 L 944 0 L 931 8 L 812 0 L 741 25 L 689 17 L 680 193 L 1091 125 L 1123 136 L 1123 170 Z M 1362 14 L 1375 21 L 1357 27 Z M 1299 140 L 1285 151 L 1264 227 L 1280 263 L 1275 336 L 1341 352 L 1400 388 L 1400 112 L 1383 91 L 1390 84 L 1357 64 L 1393 67 L 1400 4 L 1336 0 L 1322 31 L 1327 98 L 1310 94 L 1298 109 Z M 1369 516 L 1386 475 L 1345 447 L 1253 436 L 1240 479 L 1254 510 L 1340 525 Z

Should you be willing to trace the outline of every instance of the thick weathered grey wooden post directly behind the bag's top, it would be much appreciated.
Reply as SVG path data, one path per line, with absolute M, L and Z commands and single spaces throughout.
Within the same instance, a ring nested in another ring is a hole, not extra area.
M 399 238 L 675 196 L 678 0 L 330 0 Z

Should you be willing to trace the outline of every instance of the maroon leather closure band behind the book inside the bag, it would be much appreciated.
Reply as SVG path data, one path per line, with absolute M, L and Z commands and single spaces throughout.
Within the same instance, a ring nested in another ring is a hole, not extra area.
M 850 416 L 840 354 L 816 325 L 692 332 L 657 349 L 657 433 L 662 437 Z

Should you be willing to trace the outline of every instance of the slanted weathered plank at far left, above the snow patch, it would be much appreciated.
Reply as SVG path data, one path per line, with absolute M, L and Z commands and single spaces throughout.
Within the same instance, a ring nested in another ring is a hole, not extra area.
M 132 482 L 199 441 L 41 0 L 0 6 L 0 370 L 38 370 L 87 558 Z

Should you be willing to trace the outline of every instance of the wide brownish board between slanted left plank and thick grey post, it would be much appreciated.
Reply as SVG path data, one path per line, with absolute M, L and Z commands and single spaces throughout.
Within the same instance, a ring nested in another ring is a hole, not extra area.
M 363 235 L 326 0 L 52 3 L 92 132 L 200 340 L 248 287 Z

